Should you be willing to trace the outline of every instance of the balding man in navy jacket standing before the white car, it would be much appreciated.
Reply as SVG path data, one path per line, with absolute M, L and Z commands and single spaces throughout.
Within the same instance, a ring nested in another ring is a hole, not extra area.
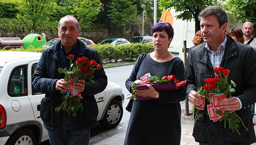
M 84 79 L 73 83 L 75 90 L 81 93 L 83 111 L 78 110 L 75 116 L 68 114 L 67 109 L 56 112 L 55 108 L 61 105 L 63 96 L 60 91 L 66 92 L 70 85 L 63 79 L 58 68 L 70 68 L 69 55 L 74 55 L 72 63 L 78 57 L 87 57 L 101 64 L 98 53 L 93 48 L 85 46 L 78 39 L 80 27 L 78 20 L 72 15 L 60 19 L 58 26 L 60 40 L 53 46 L 46 48 L 33 74 L 33 85 L 36 90 L 45 93 L 41 100 L 40 116 L 47 129 L 51 145 L 88 145 L 90 128 L 97 125 L 98 106 L 94 95 L 102 92 L 107 86 L 107 76 L 103 68 L 93 73 L 94 84 Z

